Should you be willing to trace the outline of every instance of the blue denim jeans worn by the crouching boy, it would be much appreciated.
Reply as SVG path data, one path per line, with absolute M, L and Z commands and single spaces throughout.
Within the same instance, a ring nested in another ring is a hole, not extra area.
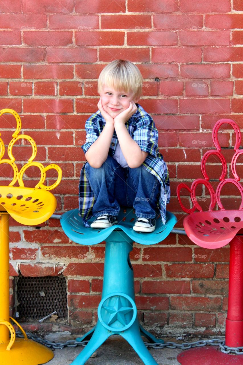
M 110 155 L 100 168 L 88 162 L 85 173 L 95 196 L 93 216 L 117 216 L 122 207 L 133 207 L 139 218 L 155 218 L 160 182 L 142 166 L 121 167 Z

